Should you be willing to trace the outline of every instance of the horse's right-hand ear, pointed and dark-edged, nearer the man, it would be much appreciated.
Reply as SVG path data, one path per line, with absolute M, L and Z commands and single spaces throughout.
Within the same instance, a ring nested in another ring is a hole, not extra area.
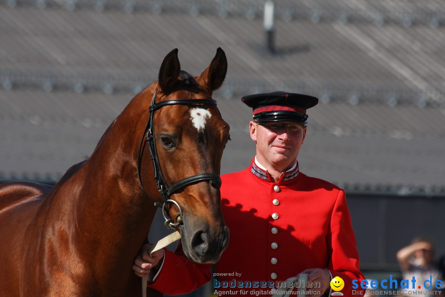
M 210 91 L 215 91 L 223 84 L 226 73 L 227 58 L 223 49 L 218 48 L 215 57 L 209 67 L 201 73 L 200 78 Z

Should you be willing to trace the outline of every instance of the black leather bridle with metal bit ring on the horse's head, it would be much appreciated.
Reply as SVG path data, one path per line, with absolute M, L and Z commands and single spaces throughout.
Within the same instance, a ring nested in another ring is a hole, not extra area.
M 160 204 L 158 202 L 155 203 L 156 206 L 162 207 L 162 215 L 164 216 L 165 223 L 164 225 L 167 228 L 176 227 L 182 223 L 182 210 L 179 207 L 178 202 L 170 199 L 170 196 L 173 194 L 183 190 L 184 188 L 208 181 L 215 189 L 220 189 L 221 187 L 221 178 L 219 174 L 216 173 L 201 173 L 186 177 L 181 179 L 180 181 L 174 183 L 170 187 L 167 185 L 167 182 L 164 179 L 164 175 L 162 174 L 161 166 L 159 164 L 158 152 L 156 150 L 156 141 L 153 137 L 153 114 L 156 110 L 166 105 L 194 105 L 194 104 L 217 104 L 217 101 L 214 99 L 176 99 L 176 100 L 167 100 L 155 103 L 156 91 L 153 93 L 153 98 L 151 99 L 151 105 L 148 113 L 147 124 L 145 125 L 144 133 L 142 135 L 142 139 L 140 140 L 139 149 L 137 150 L 137 161 L 136 161 L 136 171 L 137 178 L 139 179 L 139 184 L 142 190 L 145 192 L 144 186 L 142 185 L 142 179 L 140 176 L 140 165 L 142 160 L 142 152 L 143 152 L 143 144 L 144 137 L 145 142 L 147 143 L 148 149 L 151 155 L 151 161 L 153 162 L 153 170 L 154 170 L 154 179 L 156 180 L 156 187 L 158 188 L 159 193 L 164 200 L 164 204 Z M 146 193 L 146 192 L 145 192 Z M 167 212 L 167 204 L 172 203 L 175 204 L 179 209 L 179 215 L 177 218 L 177 222 L 173 223 L 173 219 Z

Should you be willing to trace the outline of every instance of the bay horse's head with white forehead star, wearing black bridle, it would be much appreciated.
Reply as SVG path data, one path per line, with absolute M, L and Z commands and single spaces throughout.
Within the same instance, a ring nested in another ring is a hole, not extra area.
M 229 126 L 212 99 L 226 71 L 221 48 L 198 77 L 180 69 L 174 49 L 162 62 L 158 82 L 139 95 L 150 102 L 145 129 L 137 132 L 139 184 L 162 205 L 166 226 L 180 232 L 185 255 L 199 263 L 218 261 L 228 244 L 219 174 Z

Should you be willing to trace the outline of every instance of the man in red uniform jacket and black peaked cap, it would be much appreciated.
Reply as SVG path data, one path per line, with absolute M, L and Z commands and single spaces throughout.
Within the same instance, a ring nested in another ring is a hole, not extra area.
M 297 162 L 307 132 L 306 110 L 318 99 L 273 92 L 242 101 L 253 108 L 250 137 L 257 155 L 247 169 L 221 177 L 230 241 L 216 264 L 214 287 L 270 296 L 277 282 L 307 273 L 312 282 L 307 295 L 328 294 L 331 279 L 339 276 L 345 284 L 340 292 L 353 296 L 352 280 L 359 283 L 363 275 L 345 192 L 306 176 Z M 139 276 L 150 269 L 156 273 L 148 286 L 169 295 L 206 283 L 209 268 L 186 259 L 180 248 L 152 257 L 144 251 L 134 265 Z

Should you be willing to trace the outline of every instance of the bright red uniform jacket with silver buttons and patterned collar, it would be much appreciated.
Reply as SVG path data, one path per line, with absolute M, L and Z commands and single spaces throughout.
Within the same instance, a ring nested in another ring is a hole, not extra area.
M 345 287 L 340 292 L 352 296 L 352 280 L 360 282 L 363 275 L 343 190 L 304 175 L 298 166 L 272 183 L 254 162 L 243 171 L 223 175 L 222 180 L 222 209 L 230 240 L 216 264 L 220 275 L 216 287 L 223 281 L 233 285 L 233 279 L 243 285 L 284 281 L 305 269 L 322 268 L 341 277 Z M 210 265 L 183 258 L 166 252 L 162 271 L 149 286 L 169 295 L 184 294 L 210 279 Z

